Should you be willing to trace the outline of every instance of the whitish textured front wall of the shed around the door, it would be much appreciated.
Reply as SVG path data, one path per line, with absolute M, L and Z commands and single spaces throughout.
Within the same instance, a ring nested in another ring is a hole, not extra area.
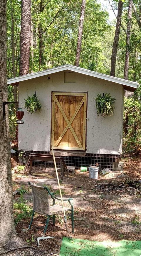
M 122 85 L 76 73 L 75 83 L 64 83 L 64 72 L 34 78 L 19 84 L 19 101 L 37 92 L 42 111 L 30 114 L 24 109 L 24 124 L 19 125 L 19 150 L 50 151 L 51 91 L 87 92 L 87 153 L 119 154 L 122 145 L 123 98 Z M 95 97 L 111 93 L 116 99 L 112 116 L 97 116 Z M 24 104 L 23 104 L 24 105 Z

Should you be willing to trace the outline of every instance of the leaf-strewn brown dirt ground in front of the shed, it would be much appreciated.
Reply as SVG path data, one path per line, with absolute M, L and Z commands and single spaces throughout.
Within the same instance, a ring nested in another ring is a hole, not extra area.
M 33 167 L 33 173 L 46 173 L 46 175 L 29 175 L 27 170 L 24 178 L 19 174 L 12 176 L 13 190 L 21 185 L 28 190 L 24 193 L 24 200 L 30 206 L 33 204 L 33 199 L 28 181 L 40 186 L 49 186 L 52 192 L 58 191 L 54 169 Z M 141 179 L 140 156 L 126 159 L 123 172 L 116 171 L 107 175 L 98 175 L 98 180 L 90 179 L 88 172 L 70 174 L 68 180 L 64 179 L 61 189 L 65 198 L 73 198 L 75 233 L 71 232 L 70 214 L 67 215 L 69 232 L 62 224 L 61 217 L 56 217 L 56 226 L 53 226 L 51 219 L 46 236 L 55 238 L 41 240 L 39 249 L 42 251 L 39 254 L 36 251 L 35 255 L 59 255 L 63 236 L 96 241 L 141 240 L 140 192 L 136 189 L 116 186 L 116 184 L 122 184 L 127 177 Z M 18 200 L 20 200 L 20 195 L 14 197 L 14 201 Z M 25 232 L 29 223 L 30 218 L 22 219 L 17 224 L 16 231 L 26 242 L 29 241 L 28 244 L 37 248 L 37 237 L 43 234 L 46 220 L 44 216 L 36 214 L 31 230 Z M 23 232 L 22 229 L 25 231 Z

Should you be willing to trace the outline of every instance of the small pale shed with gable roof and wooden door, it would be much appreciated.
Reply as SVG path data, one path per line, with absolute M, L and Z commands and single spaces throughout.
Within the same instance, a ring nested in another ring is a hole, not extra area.
M 73 162 L 75 166 L 100 163 L 108 157 L 115 161 L 120 156 L 124 89 L 135 91 L 137 83 L 63 65 L 8 79 L 8 84 L 19 86 L 23 106 L 24 99 L 35 91 L 43 106 L 35 114 L 24 109 L 19 150 L 50 153 L 53 146 L 57 155 L 66 156 L 67 164 Z M 110 93 L 115 98 L 113 115 L 97 115 L 98 93 Z

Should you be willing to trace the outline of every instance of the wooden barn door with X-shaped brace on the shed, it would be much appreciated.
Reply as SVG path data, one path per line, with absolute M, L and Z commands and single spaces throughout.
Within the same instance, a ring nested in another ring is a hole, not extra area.
M 87 93 L 52 93 L 51 145 L 85 150 Z

